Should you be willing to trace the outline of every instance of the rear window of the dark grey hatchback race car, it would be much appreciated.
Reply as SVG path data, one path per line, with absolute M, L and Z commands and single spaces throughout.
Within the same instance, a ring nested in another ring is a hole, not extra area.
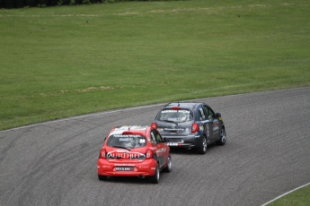
M 193 116 L 190 109 L 164 109 L 158 117 L 160 121 L 173 121 L 175 123 L 187 122 L 192 119 Z

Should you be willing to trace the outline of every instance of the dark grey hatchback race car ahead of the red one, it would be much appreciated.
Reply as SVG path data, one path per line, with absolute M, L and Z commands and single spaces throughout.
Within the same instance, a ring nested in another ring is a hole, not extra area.
M 207 145 L 226 143 L 226 130 L 219 113 L 205 103 L 173 102 L 166 104 L 151 124 L 170 147 L 196 148 L 205 154 Z

